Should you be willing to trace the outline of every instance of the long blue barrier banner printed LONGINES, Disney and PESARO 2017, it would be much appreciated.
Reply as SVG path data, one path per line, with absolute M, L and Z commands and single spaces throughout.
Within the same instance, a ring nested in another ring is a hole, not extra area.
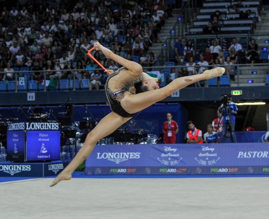
M 269 144 L 97 145 L 86 175 L 268 174 Z

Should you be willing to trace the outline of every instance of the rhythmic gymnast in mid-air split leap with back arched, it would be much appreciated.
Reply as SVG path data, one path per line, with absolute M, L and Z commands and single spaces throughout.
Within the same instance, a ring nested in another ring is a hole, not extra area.
M 206 70 L 199 75 L 177 78 L 167 86 L 159 89 L 158 79 L 142 72 L 142 67 L 138 63 L 114 54 L 99 42 L 94 43 L 94 49 L 102 51 L 107 58 L 123 66 L 113 73 L 106 70 L 109 77 L 105 90 L 112 112 L 106 115 L 87 135 L 83 147 L 69 165 L 53 180 L 50 186 L 54 186 L 62 180 L 71 179 L 72 173 L 91 154 L 96 143 L 130 120 L 135 112 L 163 100 L 175 91 L 192 83 L 219 77 L 225 72 L 224 68 Z M 87 54 L 87 52 L 85 53 Z

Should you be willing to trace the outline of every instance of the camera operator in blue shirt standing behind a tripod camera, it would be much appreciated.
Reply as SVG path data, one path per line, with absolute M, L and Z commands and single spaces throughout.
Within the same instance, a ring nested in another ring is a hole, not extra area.
M 219 107 L 219 111 L 223 115 L 223 131 L 222 131 L 222 143 L 224 143 L 228 128 L 230 128 L 232 142 L 236 143 L 235 136 L 235 122 L 238 108 L 235 103 L 232 102 L 232 97 L 223 95 L 221 97 L 222 105 Z

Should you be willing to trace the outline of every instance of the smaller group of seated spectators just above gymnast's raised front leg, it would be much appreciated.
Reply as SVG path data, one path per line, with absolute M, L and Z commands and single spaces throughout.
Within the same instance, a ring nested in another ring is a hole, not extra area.
M 178 77 L 201 74 L 207 69 L 224 66 L 226 69 L 225 75 L 229 75 L 232 80 L 234 80 L 236 72 L 236 67 L 232 65 L 261 62 L 258 44 L 254 38 L 250 39 L 247 48 L 243 48 L 237 38 L 233 38 L 227 50 L 219 45 L 218 39 L 213 39 L 204 50 L 194 53 L 192 40 L 186 40 L 184 45 L 181 36 L 174 44 L 173 56 L 170 61 L 175 61 L 175 65 L 184 66 L 178 69 Z M 171 73 L 173 72 L 171 71 Z M 204 82 L 195 83 L 191 86 L 201 87 L 202 85 L 204 85 Z

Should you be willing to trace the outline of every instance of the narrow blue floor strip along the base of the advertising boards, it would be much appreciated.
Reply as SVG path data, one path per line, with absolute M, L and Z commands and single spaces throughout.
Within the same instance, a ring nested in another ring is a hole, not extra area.
M 74 172 L 73 178 L 124 179 L 124 178 L 229 178 L 229 177 L 269 177 L 269 175 L 84 175 Z M 17 180 L 39 179 L 40 177 L 0 177 L 0 183 Z M 54 178 L 54 176 L 45 177 Z

